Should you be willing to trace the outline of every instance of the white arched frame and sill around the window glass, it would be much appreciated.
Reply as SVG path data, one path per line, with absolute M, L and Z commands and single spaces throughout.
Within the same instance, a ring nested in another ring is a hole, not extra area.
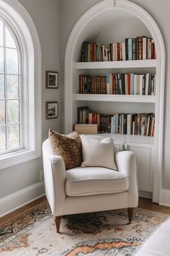
M 0 169 L 41 156 L 41 48 L 34 22 L 19 1 L 0 0 L 0 16 L 19 43 L 21 52 L 21 84 L 24 148 L 0 155 Z

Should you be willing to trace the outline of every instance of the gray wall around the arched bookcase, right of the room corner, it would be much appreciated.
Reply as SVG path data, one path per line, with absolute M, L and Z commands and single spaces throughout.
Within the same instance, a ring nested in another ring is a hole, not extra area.
M 165 81 L 165 107 L 164 107 L 164 167 L 163 167 L 163 188 L 170 189 L 170 157 L 169 157 L 169 144 L 170 144 L 170 2 L 169 0 L 156 1 L 156 0 L 132 0 L 135 4 L 138 4 L 143 9 L 151 14 L 153 19 L 156 21 L 158 27 L 164 38 L 164 43 L 166 46 L 166 81 Z M 68 36 L 71 33 L 73 25 L 79 20 L 82 14 L 86 12 L 94 4 L 99 3 L 100 0 L 61 0 L 60 1 L 60 13 L 61 15 L 61 69 L 63 73 L 63 59 L 64 52 L 66 49 L 66 43 Z M 63 77 L 62 77 L 63 85 Z M 62 99 L 64 97 L 62 91 Z M 63 121 L 62 121 L 63 129 Z

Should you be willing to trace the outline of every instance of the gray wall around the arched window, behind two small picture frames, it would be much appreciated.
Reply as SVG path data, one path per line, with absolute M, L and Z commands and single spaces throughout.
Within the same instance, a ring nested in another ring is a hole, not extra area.
M 59 89 L 45 89 L 45 71 L 60 74 L 59 7 L 58 0 L 19 0 L 32 17 L 42 50 L 42 141 L 48 129 L 61 132 L 61 84 Z M 58 119 L 45 119 L 45 101 L 58 101 Z M 42 159 L 25 162 L 0 170 L 0 198 L 39 182 Z

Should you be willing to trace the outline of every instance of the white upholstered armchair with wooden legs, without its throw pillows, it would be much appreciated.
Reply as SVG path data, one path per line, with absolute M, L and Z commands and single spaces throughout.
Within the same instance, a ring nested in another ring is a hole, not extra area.
M 115 154 L 118 171 L 102 167 L 76 167 L 66 171 L 63 158 L 53 155 L 50 140 L 42 145 L 45 193 L 55 218 L 57 232 L 61 216 L 128 208 L 131 223 L 138 206 L 135 155 Z M 95 170 L 94 170 L 95 169 Z

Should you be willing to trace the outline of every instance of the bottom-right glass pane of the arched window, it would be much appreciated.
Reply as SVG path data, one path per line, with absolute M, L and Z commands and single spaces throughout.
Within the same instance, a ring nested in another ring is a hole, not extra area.
M 19 147 L 19 124 L 7 127 L 7 149 Z

